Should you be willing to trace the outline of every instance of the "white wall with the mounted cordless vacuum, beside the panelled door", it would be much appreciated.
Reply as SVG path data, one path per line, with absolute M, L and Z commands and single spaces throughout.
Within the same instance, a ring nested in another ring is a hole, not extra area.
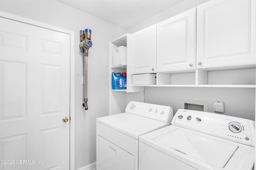
M 126 29 L 60 2 L 48 0 L 0 0 L 0 11 L 41 21 L 75 32 L 75 169 L 96 161 L 96 117 L 108 115 L 109 41 Z M 88 110 L 82 107 L 82 53 L 79 31 L 92 30 L 93 46 L 88 57 Z M 17 28 L 18 29 L 18 28 Z

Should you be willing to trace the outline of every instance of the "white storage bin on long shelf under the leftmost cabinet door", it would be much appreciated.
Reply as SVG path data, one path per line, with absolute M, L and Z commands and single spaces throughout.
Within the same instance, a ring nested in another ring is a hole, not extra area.
M 156 84 L 156 74 L 133 74 L 132 81 L 134 85 Z

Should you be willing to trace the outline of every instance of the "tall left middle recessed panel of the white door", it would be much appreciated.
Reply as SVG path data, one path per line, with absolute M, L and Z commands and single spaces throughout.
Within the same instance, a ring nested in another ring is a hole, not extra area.
M 26 117 L 26 63 L 15 61 L 0 62 L 0 120 Z M 18 86 L 17 86 L 18 82 Z M 15 104 L 13 100 L 19 101 Z

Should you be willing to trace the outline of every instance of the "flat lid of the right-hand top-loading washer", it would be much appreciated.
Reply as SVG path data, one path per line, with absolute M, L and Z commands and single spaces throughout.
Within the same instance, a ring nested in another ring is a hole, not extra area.
M 220 168 L 224 168 L 238 149 L 237 145 L 183 129 L 170 131 L 154 140 Z

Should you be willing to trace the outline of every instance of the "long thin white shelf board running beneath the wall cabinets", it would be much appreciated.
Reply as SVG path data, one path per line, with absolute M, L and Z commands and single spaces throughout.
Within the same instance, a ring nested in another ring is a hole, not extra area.
M 256 85 L 234 85 L 234 84 L 181 84 L 181 85 L 132 85 L 144 87 L 220 87 L 220 88 L 256 88 Z

